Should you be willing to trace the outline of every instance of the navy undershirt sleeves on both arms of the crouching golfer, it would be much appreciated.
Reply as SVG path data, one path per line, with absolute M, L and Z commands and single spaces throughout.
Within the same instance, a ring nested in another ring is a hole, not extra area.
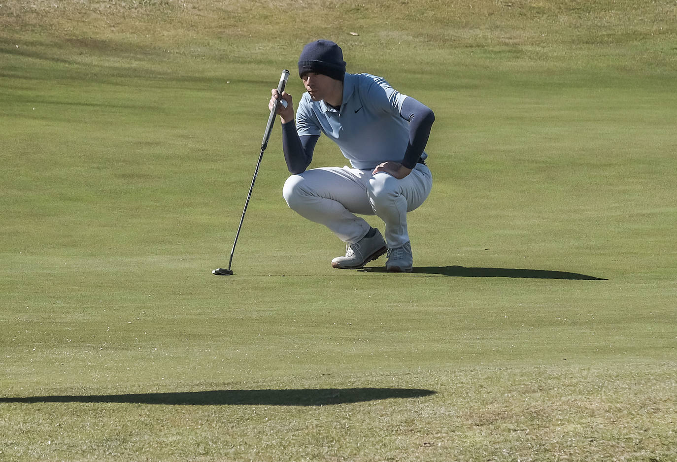
M 400 114 L 403 119 L 409 121 L 409 143 L 401 164 L 406 168 L 414 168 L 428 143 L 435 114 L 412 97 L 404 100 Z M 313 151 L 318 139 L 320 135 L 299 137 L 293 121 L 282 124 L 282 150 L 290 173 L 296 175 L 305 172 L 313 160 Z

